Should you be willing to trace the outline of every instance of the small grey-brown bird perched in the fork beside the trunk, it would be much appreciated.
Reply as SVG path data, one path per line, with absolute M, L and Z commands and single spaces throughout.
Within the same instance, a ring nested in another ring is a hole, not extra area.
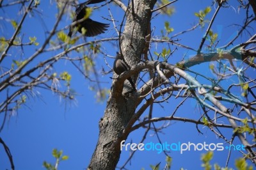
M 127 70 L 129 70 L 129 68 L 130 68 L 130 66 L 127 65 L 127 63 L 125 63 L 124 57 L 121 54 L 116 53 L 116 59 L 114 61 L 114 66 L 113 66 L 114 72 L 117 75 L 120 75 L 121 73 L 124 73 Z M 129 77 L 127 80 L 130 82 L 132 88 L 136 91 L 136 86 L 135 86 L 134 82 L 132 81 L 132 78 Z

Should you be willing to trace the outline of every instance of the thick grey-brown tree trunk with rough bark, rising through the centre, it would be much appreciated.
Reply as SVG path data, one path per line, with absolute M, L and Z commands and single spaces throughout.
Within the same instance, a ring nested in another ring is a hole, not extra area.
M 155 3 L 156 0 L 134 0 L 133 5 L 131 3 L 127 8 L 124 33 L 120 38 L 120 52 L 129 65 L 140 62 Z M 127 88 L 129 87 L 124 86 L 124 91 Z M 98 143 L 88 169 L 115 169 L 118 163 L 120 142 L 127 139 L 127 135 L 122 135 L 122 132 L 135 112 L 137 100 L 134 95 L 124 97 L 122 90 L 122 85 L 111 88 L 104 117 L 99 122 Z

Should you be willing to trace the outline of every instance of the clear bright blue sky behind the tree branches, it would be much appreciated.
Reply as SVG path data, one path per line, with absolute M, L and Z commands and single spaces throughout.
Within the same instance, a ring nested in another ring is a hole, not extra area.
M 173 35 L 184 29 L 189 29 L 198 21 L 194 13 L 203 10 L 206 6 L 210 5 L 211 3 L 209 3 L 209 1 L 203 0 L 177 1 L 177 3 L 174 4 L 175 13 L 172 17 L 157 15 L 156 19 L 152 20 L 152 27 L 156 27 L 154 35 L 160 35 L 160 31 L 163 29 L 164 21 L 166 20 L 168 20 L 170 26 L 174 28 Z M 237 10 L 237 3 L 234 3 L 233 5 L 234 8 L 221 9 L 220 15 L 216 17 L 214 26 L 212 27 L 213 31 L 219 35 L 220 47 L 225 45 L 230 38 L 236 35 L 237 27 L 232 26 L 232 24 L 235 22 L 241 24 L 245 16 L 243 10 Z M 113 17 L 115 17 L 116 20 L 121 20 L 124 12 L 113 4 L 109 4 L 109 6 Z M 10 19 L 20 19 L 20 16 L 16 15 L 18 9 L 19 8 L 15 8 L 14 6 L 8 8 L 8 10 L 7 8 L 0 8 L 0 16 L 3 15 L 3 17 L 9 17 Z M 24 35 L 24 37 L 27 38 L 28 36 L 35 35 L 38 42 L 42 44 L 45 40 L 45 35 L 47 35 L 45 31 L 47 29 L 48 31 L 51 30 L 56 20 L 56 4 L 49 4 L 48 1 L 42 1 L 39 6 L 39 12 L 43 13 L 42 19 L 38 17 L 38 13 L 34 13 L 36 16 L 35 19 L 29 18 L 24 23 L 24 26 L 22 26 L 22 32 L 27 33 Z M 108 13 L 106 6 L 100 10 L 95 10 L 91 18 L 93 20 L 108 23 L 109 21 L 103 20 L 101 17 L 102 15 L 106 15 L 105 13 Z M 211 19 L 213 13 L 214 7 L 212 6 L 212 12 L 209 13 L 207 19 Z M 42 20 L 45 20 L 45 24 L 42 24 Z M 67 26 L 68 24 L 70 24 L 70 20 L 68 17 L 64 17 L 61 20 L 59 28 Z M 120 24 L 120 22 L 118 22 L 118 24 Z M 252 26 L 255 26 L 255 23 Z M 95 37 L 95 39 L 100 37 L 111 37 L 113 35 L 116 36 L 115 31 L 113 30 L 113 25 L 109 27 L 109 30 L 110 31 L 105 34 Z M 179 37 L 181 39 L 180 43 L 197 49 L 201 41 L 200 37 L 204 35 L 204 31 L 205 29 L 197 29 L 196 31 L 182 35 Z M 12 33 L 13 29 L 10 25 L 6 24 L 1 27 L 0 36 L 10 38 Z M 242 38 L 238 38 L 237 42 L 241 43 L 244 40 L 247 40 L 247 38 L 248 35 L 244 35 Z M 88 38 L 87 40 L 93 40 L 93 38 Z M 110 45 L 111 44 L 109 43 L 106 44 L 106 46 L 103 46 L 104 52 L 114 56 L 118 49 L 116 47 L 111 47 Z M 163 47 L 168 46 L 154 44 L 152 50 L 161 52 Z M 174 49 L 174 47 L 171 48 L 172 50 Z M 15 52 L 15 50 L 12 52 Z M 16 59 L 26 58 L 33 54 L 33 52 L 35 52 L 34 47 L 25 47 L 24 54 L 15 52 L 13 53 L 13 57 Z M 34 62 L 36 63 L 37 61 L 40 61 L 40 59 L 47 58 L 55 53 L 57 52 L 52 52 L 51 54 L 47 53 L 45 56 L 41 55 L 40 58 L 36 59 Z M 169 62 L 175 64 L 177 61 L 180 61 L 185 54 L 189 57 L 193 56 L 195 52 L 180 48 L 175 52 L 175 55 L 170 58 Z M 72 52 L 72 55 L 76 56 L 79 54 Z M 113 59 L 107 58 L 107 61 L 109 65 L 113 64 Z M 3 63 L 8 66 L 12 63 L 12 59 L 6 59 Z M 106 68 L 106 70 L 109 70 L 102 58 L 97 58 L 95 63 L 97 64 L 99 73 L 102 66 Z M 202 72 L 202 69 L 204 69 L 205 75 L 212 75 L 210 70 L 207 70 L 208 66 L 209 63 L 194 66 L 193 70 Z M 44 160 L 51 163 L 54 163 L 55 161 L 51 155 L 53 148 L 63 150 L 63 154 L 69 156 L 68 160 L 60 163 L 59 169 L 86 169 L 97 144 L 99 135 L 98 123 L 104 114 L 106 100 L 100 103 L 97 102 L 95 91 L 89 89 L 93 83 L 85 80 L 70 63 L 60 61 L 54 66 L 54 71 L 59 73 L 68 71 L 72 75 L 71 86 L 73 89 L 76 89 L 76 93 L 79 95 L 76 97 L 76 102 L 69 104 L 60 100 L 60 97 L 54 95 L 51 91 L 35 89 L 36 97 L 29 97 L 26 105 L 21 107 L 16 115 L 10 116 L 0 135 L 4 142 L 8 144 L 10 151 L 12 152 L 16 169 L 44 169 L 42 167 Z M 110 89 L 111 79 L 109 79 L 109 77 L 111 77 L 111 74 L 100 76 L 101 81 L 107 82 L 103 83 L 102 87 Z M 221 83 L 225 84 L 230 81 L 232 80 L 225 80 Z M 234 81 L 237 81 L 236 77 L 234 77 Z M 64 88 L 64 85 L 62 85 L 62 88 Z M 239 93 L 239 91 L 237 91 L 237 93 Z M 1 94 L 1 98 L 3 95 L 4 92 Z M 153 116 L 170 115 L 179 102 L 180 100 L 175 100 L 170 103 L 164 103 L 164 108 L 156 105 L 154 107 Z M 198 105 L 196 105 L 195 101 L 188 100 L 186 102 L 186 107 L 180 109 L 177 116 L 199 118 L 201 112 L 198 112 L 196 107 L 198 107 Z M 3 116 L 0 116 L 0 120 L 2 119 Z M 156 123 L 156 125 L 162 124 L 163 122 Z M 168 143 L 225 143 L 225 141 L 218 139 L 216 135 L 212 134 L 211 130 L 208 128 L 202 126 L 200 126 L 200 128 L 204 133 L 203 135 L 198 133 L 193 124 L 172 121 L 170 127 L 164 129 L 163 133 L 159 133 L 159 135 L 162 142 L 166 141 Z M 129 135 L 127 142 L 132 140 L 133 143 L 139 143 L 144 132 L 145 130 L 142 128 L 132 132 L 131 135 Z M 227 136 L 230 137 L 231 132 L 232 130 L 225 130 L 224 134 L 227 134 Z M 150 142 L 158 142 L 154 132 L 148 133 L 144 143 Z M 239 144 L 237 140 L 235 140 L 234 143 Z M 170 156 L 173 158 L 172 169 L 179 169 L 180 167 L 183 167 L 184 169 L 201 169 L 202 162 L 200 162 L 200 156 L 202 153 L 204 152 L 187 151 L 180 154 L 177 151 L 172 151 L 172 153 L 170 153 Z M 214 159 L 212 160 L 212 163 L 218 162 L 220 166 L 225 166 L 227 155 L 227 150 L 214 151 Z M 128 157 L 129 151 L 123 151 L 118 166 L 122 166 Z M 238 157 L 241 157 L 239 152 L 232 151 L 229 164 L 230 167 L 234 167 L 234 160 Z M 0 169 L 10 169 L 10 163 L 4 153 L 3 147 L 0 147 L 0 159 Z M 165 155 L 163 153 L 158 154 L 156 151 L 147 151 L 146 153 L 145 151 L 138 151 L 135 153 L 134 158 L 132 158 L 131 164 L 127 166 L 127 169 L 141 169 L 142 167 L 150 169 L 150 164 L 157 164 L 159 162 L 162 162 L 161 167 L 164 167 L 164 160 Z

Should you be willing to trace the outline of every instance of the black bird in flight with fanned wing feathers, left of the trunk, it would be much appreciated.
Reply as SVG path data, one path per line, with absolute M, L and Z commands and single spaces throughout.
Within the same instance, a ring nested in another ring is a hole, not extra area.
M 86 15 L 87 4 L 95 4 L 100 3 L 102 1 L 104 0 L 90 0 L 86 1 L 85 3 L 79 4 L 78 8 L 76 9 L 76 16 L 74 17 L 73 22 L 76 22 L 77 20 L 81 20 L 84 18 L 84 16 Z M 74 27 L 77 27 L 77 31 L 79 33 L 82 33 L 82 28 L 86 29 L 86 33 L 84 36 L 97 36 L 101 33 L 104 33 L 104 31 L 107 30 L 106 28 L 109 27 L 109 24 L 104 24 L 88 18 L 83 20 L 82 22 L 77 23 L 75 26 L 70 26 L 68 32 L 69 37 L 72 36 Z

